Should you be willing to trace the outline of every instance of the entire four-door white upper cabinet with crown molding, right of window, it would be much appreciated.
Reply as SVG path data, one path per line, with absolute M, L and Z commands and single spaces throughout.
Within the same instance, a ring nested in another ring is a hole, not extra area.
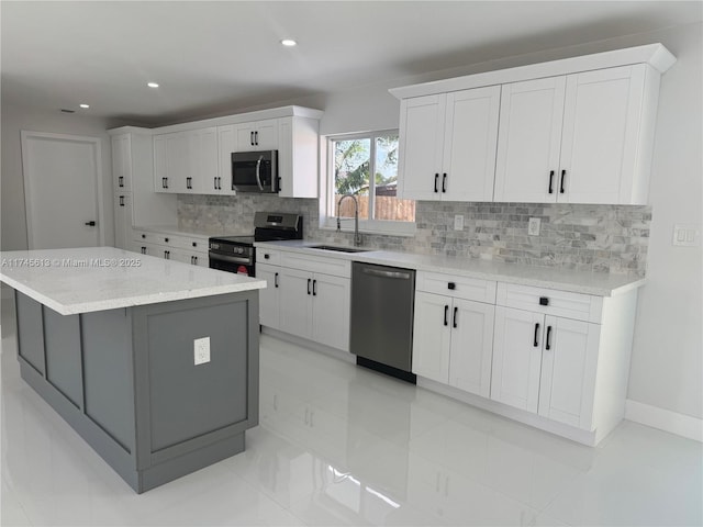
M 646 204 L 659 79 L 674 63 L 650 44 L 393 88 L 399 193 Z

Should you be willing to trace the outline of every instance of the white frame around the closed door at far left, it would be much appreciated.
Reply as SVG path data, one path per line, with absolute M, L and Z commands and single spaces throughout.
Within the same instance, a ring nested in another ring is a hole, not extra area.
M 94 162 L 96 162 L 96 211 L 98 213 L 98 246 L 102 246 L 105 243 L 105 217 L 104 206 L 102 203 L 102 139 L 100 137 L 90 137 L 86 135 L 69 135 L 69 134 L 55 134 L 49 132 L 33 132 L 23 130 L 22 136 L 22 177 L 24 180 L 24 216 L 26 221 L 26 246 L 27 249 L 34 248 L 34 231 L 32 228 L 32 203 L 30 200 L 32 183 L 30 181 L 29 166 L 30 166 L 30 153 L 29 142 L 31 139 L 55 139 L 60 142 L 74 142 L 74 143 L 87 143 L 92 145 Z

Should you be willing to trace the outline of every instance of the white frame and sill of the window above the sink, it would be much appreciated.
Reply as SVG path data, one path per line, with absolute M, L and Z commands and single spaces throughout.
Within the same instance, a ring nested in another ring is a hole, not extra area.
M 399 135 L 398 128 L 373 130 L 367 132 L 354 132 L 347 134 L 330 134 L 321 136 L 320 160 L 320 228 L 323 231 L 336 231 L 337 217 L 333 215 L 334 203 L 334 152 L 333 142 L 352 139 L 370 139 L 370 167 L 369 167 L 369 211 L 376 206 L 376 138 L 384 135 Z M 400 135 L 399 135 L 400 142 Z M 400 171 L 400 156 L 399 156 Z M 400 175 L 399 175 L 400 177 Z M 371 181 L 373 181 L 371 183 Z M 371 193 L 371 184 L 373 192 Z M 359 218 L 359 232 L 366 234 L 386 234 L 392 236 L 414 236 L 415 222 Z M 354 218 L 342 217 L 341 231 L 354 233 Z

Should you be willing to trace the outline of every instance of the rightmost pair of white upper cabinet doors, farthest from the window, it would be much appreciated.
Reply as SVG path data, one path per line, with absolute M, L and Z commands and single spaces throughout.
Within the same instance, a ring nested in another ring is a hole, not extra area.
M 503 86 L 495 200 L 646 203 L 645 153 L 652 135 L 644 108 L 648 68 Z

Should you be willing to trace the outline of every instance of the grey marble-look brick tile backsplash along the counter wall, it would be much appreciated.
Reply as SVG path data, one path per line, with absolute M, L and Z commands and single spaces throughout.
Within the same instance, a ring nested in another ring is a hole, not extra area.
M 256 211 L 297 212 L 306 239 L 350 245 L 352 234 L 321 229 L 316 199 L 266 194 L 178 195 L 178 223 L 188 228 L 250 232 Z M 455 215 L 464 229 L 454 229 Z M 527 235 L 529 217 L 542 220 L 538 236 Z M 555 267 L 644 277 L 649 205 L 545 203 L 460 203 L 419 201 L 413 237 L 364 235 L 364 245 L 425 255 L 446 254 L 526 266 Z

